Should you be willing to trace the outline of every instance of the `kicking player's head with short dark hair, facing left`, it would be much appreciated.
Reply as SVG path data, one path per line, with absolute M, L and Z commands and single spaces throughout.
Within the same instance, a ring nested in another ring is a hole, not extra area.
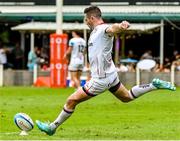
M 90 28 L 93 28 L 94 23 L 97 20 L 101 20 L 101 10 L 97 6 L 90 6 L 85 8 L 84 14 L 84 20 Z

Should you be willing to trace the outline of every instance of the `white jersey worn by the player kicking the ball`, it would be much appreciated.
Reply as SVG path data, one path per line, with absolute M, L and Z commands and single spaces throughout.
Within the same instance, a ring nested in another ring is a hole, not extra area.
M 112 60 L 114 37 L 105 33 L 109 25 L 101 24 L 94 28 L 88 41 L 89 62 L 93 78 L 105 78 L 116 72 Z

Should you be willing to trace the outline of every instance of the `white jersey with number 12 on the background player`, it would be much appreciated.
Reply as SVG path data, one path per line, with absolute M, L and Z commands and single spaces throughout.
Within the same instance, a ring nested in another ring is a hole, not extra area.
M 83 38 L 72 38 L 69 41 L 69 46 L 72 47 L 70 64 L 84 64 L 83 53 L 86 47 L 86 41 Z

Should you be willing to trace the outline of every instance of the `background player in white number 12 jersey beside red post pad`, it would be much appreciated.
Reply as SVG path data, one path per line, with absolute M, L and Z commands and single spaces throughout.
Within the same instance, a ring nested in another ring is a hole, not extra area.
M 86 41 L 80 37 L 78 31 L 72 31 L 72 39 L 69 40 L 69 47 L 64 58 L 69 61 L 68 70 L 71 75 L 71 81 L 77 89 L 81 86 L 80 76 L 84 68 L 84 53 Z

